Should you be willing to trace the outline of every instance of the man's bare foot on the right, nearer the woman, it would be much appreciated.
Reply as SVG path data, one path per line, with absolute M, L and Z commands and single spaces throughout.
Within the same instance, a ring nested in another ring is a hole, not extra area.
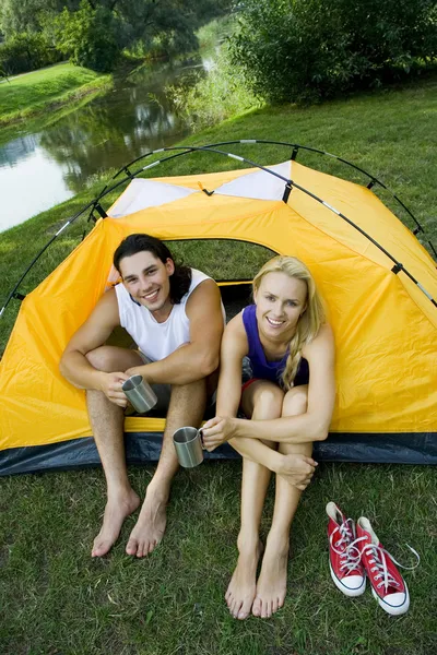
M 160 489 L 158 492 L 147 488 L 143 507 L 137 524 L 130 533 L 126 547 L 128 555 L 144 557 L 160 544 L 167 523 L 166 505 L 168 490 Z

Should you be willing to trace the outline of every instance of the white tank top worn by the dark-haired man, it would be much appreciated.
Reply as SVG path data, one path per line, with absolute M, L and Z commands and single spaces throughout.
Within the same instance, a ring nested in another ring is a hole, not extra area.
M 211 279 L 211 277 L 201 271 L 191 269 L 190 288 L 182 296 L 180 302 L 173 306 L 170 314 L 164 323 L 158 323 L 149 309 L 133 302 L 122 284 L 116 285 L 120 324 L 149 359 L 153 361 L 164 359 L 190 341 L 190 321 L 186 313 L 186 305 L 196 287 L 205 279 Z M 225 320 L 223 303 L 222 313 Z

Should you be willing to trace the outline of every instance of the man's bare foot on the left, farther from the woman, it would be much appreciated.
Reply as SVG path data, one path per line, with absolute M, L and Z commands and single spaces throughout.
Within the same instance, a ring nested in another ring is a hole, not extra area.
M 125 519 L 134 512 L 139 504 L 140 499 L 133 489 L 130 489 L 121 497 L 108 498 L 102 529 L 94 539 L 91 557 L 102 557 L 110 550 L 120 534 Z

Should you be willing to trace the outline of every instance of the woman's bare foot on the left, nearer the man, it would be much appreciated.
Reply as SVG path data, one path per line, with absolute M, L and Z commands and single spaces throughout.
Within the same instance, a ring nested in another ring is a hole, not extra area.
M 234 619 L 247 619 L 257 591 L 257 567 L 262 552 L 258 541 L 255 548 L 240 549 L 237 565 L 227 587 L 225 599 Z

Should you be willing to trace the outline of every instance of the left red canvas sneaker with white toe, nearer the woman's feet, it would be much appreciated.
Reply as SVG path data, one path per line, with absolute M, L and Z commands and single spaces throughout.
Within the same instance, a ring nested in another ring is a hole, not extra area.
M 345 519 L 334 502 L 327 504 L 327 514 L 331 577 L 346 596 L 361 596 L 366 588 L 366 573 L 355 544 L 355 523 Z

